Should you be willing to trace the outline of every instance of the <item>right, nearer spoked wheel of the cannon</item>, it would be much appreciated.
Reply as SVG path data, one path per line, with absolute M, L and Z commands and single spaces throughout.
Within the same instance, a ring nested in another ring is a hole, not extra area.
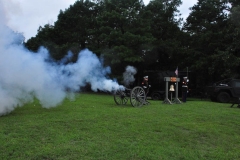
M 142 87 L 134 87 L 131 90 L 130 102 L 133 107 L 141 107 L 145 103 L 145 91 Z

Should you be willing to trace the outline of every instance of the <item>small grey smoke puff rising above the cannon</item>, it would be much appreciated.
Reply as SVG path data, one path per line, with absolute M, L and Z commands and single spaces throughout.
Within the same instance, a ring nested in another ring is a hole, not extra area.
M 136 68 L 133 66 L 127 66 L 125 72 L 123 73 L 123 84 L 129 86 L 135 81 L 134 75 L 137 73 Z

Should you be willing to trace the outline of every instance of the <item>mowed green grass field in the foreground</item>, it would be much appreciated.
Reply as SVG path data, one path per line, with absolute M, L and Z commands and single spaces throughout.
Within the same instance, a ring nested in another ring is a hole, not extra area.
M 0 159 L 240 159 L 240 109 L 188 99 L 134 108 L 77 94 L 56 108 L 35 101 L 0 117 Z

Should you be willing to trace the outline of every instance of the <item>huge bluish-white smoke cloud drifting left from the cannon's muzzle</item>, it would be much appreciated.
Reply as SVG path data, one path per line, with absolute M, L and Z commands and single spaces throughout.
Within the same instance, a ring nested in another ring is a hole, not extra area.
M 23 45 L 24 37 L 0 24 L 0 115 L 37 98 L 45 108 L 60 104 L 67 91 L 78 91 L 86 84 L 93 91 L 114 91 L 123 88 L 106 78 L 111 69 L 104 67 L 89 50 L 79 53 L 76 63 L 50 61 L 49 52 L 40 48 L 30 52 Z

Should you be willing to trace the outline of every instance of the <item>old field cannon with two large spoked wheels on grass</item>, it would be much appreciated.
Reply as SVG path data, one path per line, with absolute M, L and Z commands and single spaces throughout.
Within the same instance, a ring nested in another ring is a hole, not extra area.
M 148 92 L 148 91 L 147 91 Z M 128 99 L 133 107 L 141 107 L 142 105 L 148 105 L 149 102 L 146 100 L 144 89 L 140 86 L 136 86 L 133 89 L 119 89 L 114 93 L 114 101 L 117 105 L 126 105 Z

